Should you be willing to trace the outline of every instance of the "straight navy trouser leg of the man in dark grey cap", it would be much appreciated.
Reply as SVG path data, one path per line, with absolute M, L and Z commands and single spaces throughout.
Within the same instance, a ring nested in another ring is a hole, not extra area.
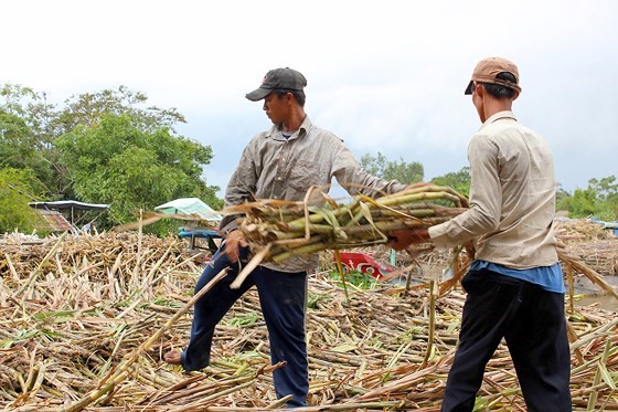
M 270 340 L 273 380 L 278 398 L 292 394 L 288 406 L 307 405 L 309 376 L 305 339 L 305 308 L 307 307 L 307 273 L 285 273 L 258 267 L 254 279 Z

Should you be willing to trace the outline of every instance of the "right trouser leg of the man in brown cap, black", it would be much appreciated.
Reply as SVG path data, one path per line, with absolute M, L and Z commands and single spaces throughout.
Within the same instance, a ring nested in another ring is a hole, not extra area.
M 526 284 L 522 300 L 505 338 L 528 410 L 571 411 L 564 294 Z

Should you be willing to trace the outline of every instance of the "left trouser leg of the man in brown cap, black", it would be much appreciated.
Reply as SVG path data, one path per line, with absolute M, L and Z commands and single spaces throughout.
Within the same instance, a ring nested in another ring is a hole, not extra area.
M 472 411 L 487 362 L 519 307 L 520 281 L 489 271 L 471 271 L 462 285 L 468 296 L 443 411 Z

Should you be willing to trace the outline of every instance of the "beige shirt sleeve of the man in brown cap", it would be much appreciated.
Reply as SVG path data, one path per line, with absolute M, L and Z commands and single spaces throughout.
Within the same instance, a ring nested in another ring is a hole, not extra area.
M 486 136 L 475 136 L 468 146 L 470 208 L 458 216 L 429 228 L 438 247 L 464 244 L 496 230 L 500 223 L 502 188 L 498 146 Z

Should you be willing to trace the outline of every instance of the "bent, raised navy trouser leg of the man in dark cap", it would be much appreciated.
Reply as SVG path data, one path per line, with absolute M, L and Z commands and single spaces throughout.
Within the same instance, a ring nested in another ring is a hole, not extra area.
M 253 286 L 253 279 L 249 275 L 238 289 L 230 287 L 238 274 L 238 264 L 230 262 L 224 253 L 224 247 L 225 245 L 222 245 L 213 255 L 195 285 L 195 293 L 198 293 L 223 268 L 230 267 L 227 275 L 220 279 L 193 307 L 191 338 L 188 347 L 181 355 L 182 367 L 187 371 L 200 370 L 209 366 L 212 339 L 216 325 L 232 305 Z M 246 257 L 246 252 L 242 252 L 242 258 Z

